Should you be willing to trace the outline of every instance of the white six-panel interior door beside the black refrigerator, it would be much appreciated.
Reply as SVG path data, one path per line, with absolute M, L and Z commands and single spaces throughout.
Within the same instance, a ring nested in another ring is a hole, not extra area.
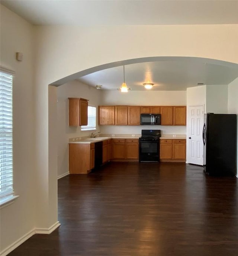
M 203 165 L 203 106 L 189 106 L 188 111 L 188 154 L 187 162 Z

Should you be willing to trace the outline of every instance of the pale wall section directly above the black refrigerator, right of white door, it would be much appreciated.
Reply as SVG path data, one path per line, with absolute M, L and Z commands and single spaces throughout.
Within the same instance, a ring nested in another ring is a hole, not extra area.
M 227 114 L 228 85 L 206 86 L 206 113 Z

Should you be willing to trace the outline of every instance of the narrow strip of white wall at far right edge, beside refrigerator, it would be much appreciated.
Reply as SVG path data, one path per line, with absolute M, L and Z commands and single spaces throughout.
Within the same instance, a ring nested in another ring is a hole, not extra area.
M 228 84 L 228 113 L 238 114 L 238 78 Z M 238 127 L 238 123 L 237 123 Z M 238 134 L 237 134 L 237 166 L 238 166 Z

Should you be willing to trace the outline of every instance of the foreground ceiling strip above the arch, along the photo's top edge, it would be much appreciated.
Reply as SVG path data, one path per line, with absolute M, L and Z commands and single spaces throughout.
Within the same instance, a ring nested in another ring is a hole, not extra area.
M 232 0 L 1 0 L 34 25 L 237 24 Z

